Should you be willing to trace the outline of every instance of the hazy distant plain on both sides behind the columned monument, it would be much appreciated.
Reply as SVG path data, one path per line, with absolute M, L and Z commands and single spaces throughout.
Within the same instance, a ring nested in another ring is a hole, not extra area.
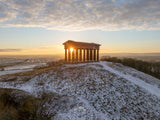
M 100 56 L 115 56 L 118 58 L 135 58 L 149 62 L 160 62 L 160 54 L 136 54 L 136 53 L 101 53 Z M 63 59 L 63 55 L 26 55 L 26 56 L 2 56 L 0 55 L 0 75 L 31 71 L 35 67 L 45 65 L 48 62 Z

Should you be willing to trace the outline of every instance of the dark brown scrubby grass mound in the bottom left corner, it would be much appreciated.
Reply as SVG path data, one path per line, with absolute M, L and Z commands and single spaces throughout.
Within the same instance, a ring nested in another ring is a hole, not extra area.
M 24 91 L 0 88 L 0 120 L 50 120 L 39 114 L 40 103 Z

